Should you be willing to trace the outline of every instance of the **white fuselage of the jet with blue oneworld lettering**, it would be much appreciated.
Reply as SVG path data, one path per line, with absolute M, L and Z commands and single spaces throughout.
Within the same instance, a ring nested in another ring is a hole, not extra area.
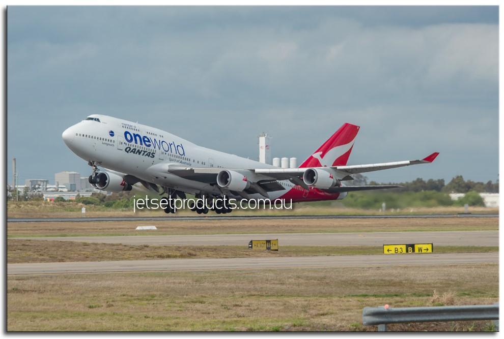
M 93 118 L 93 119 L 91 119 Z M 169 132 L 106 115 L 90 115 L 63 132 L 67 146 L 80 158 L 106 169 L 130 174 L 186 193 L 219 194 L 210 184 L 169 173 L 167 165 L 194 168 L 275 168 L 272 165 L 220 152 L 182 139 Z M 294 185 L 279 181 L 285 190 L 270 193 L 281 197 Z M 252 198 L 261 197 L 259 194 Z

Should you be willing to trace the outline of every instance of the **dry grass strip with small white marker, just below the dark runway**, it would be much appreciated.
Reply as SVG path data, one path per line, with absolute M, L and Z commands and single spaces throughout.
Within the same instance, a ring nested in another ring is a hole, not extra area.
M 498 230 L 498 218 L 172 220 L 7 223 L 8 237 Z M 155 225 L 157 231 L 136 231 Z

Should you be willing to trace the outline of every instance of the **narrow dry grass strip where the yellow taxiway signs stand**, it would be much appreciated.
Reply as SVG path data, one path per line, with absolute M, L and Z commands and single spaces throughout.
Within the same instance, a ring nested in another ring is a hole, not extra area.
M 497 251 L 497 246 L 436 246 L 436 253 Z M 167 258 L 274 258 L 381 253 L 381 246 L 282 246 L 280 251 L 252 251 L 247 246 L 153 246 L 52 240 L 7 240 L 7 262 L 11 264 Z

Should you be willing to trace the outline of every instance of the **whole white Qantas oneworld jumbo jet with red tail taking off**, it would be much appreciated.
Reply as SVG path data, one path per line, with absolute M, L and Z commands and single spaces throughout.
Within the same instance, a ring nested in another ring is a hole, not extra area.
M 63 141 L 92 167 L 91 186 L 108 192 L 133 188 L 186 199 L 234 198 L 242 201 L 291 202 L 340 200 L 348 192 L 398 188 L 397 185 L 346 186 L 354 174 L 432 163 L 434 152 L 421 160 L 347 165 L 360 127 L 345 123 L 298 168 L 279 168 L 196 145 L 155 127 L 92 114 L 66 129 Z M 99 169 L 99 166 L 103 169 Z M 221 199 L 217 199 L 222 201 Z M 231 212 L 227 205 L 213 208 Z M 208 213 L 207 206 L 194 206 Z M 175 213 L 173 206 L 164 208 Z

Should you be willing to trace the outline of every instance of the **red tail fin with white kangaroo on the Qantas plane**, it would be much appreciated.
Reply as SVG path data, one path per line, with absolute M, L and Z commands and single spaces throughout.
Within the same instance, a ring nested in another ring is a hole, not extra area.
M 346 165 L 359 128 L 359 126 L 345 123 L 299 167 Z

